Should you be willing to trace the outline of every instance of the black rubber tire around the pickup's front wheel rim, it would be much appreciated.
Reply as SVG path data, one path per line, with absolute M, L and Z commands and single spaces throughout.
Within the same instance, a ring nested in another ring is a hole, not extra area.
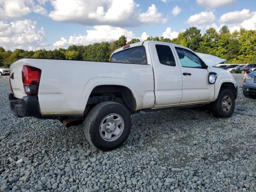
M 229 111 L 224 111 L 224 109 L 222 108 L 222 100 L 226 96 L 228 96 L 228 98 L 230 98 L 231 100 Z M 234 93 L 230 89 L 221 89 L 217 100 L 211 103 L 212 113 L 214 116 L 217 116 L 217 117 L 222 117 L 222 118 L 230 117 L 234 112 L 234 108 L 235 108 L 235 97 L 234 97 Z

